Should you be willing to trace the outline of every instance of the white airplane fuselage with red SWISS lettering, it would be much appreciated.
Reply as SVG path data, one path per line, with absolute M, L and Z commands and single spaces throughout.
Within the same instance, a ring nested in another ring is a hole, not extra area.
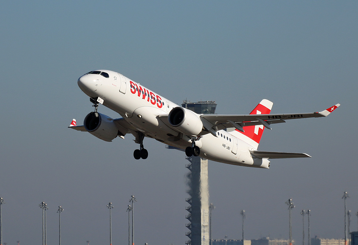
M 101 97 L 104 106 L 120 114 L 147 137 L 181 149 L 191 146 L 191 138 L 173 130 L 158 117 L 168 114 L 171 109 L 178 107 L 177 104 L 119 73 L 101 71 L 108 73 L 109 78 L 99 74 L 84 74 L 78 79 L 78 86 L 85 94 L 91 98 Z M 267 159 L 251 156 L 249 150 L 256 149 L 250 144 L 224 130 L 217 131 L 217 134 L 215 137 L 208 133 L 195 141 L 201 157 L 233 165 L 269 167 Z M 172 141 L 173 137 L 176 137 L 175 141 Z

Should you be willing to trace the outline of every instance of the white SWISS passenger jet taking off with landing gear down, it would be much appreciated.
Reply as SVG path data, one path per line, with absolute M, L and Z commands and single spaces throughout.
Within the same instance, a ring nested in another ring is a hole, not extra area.
M 269 159 L 310 157 L 306 153 L 258 151 L 265 128 L 289 119 L 326 117 L 340 104 L 321 112 L 270 114 L 273 103 L 263 99 L 250 114 L 197 114 L 169 101 L 124 75 L 110 70 L 93 70 L 82 75 L 77 84 L 89 96 L 95 110 L 87 114 L 82 126 L 73 119 L 69 128 L 89 132 L 103 141 L 131 133 L 139 149 L 135 159 L 146 159 L 144 138 L 179 149 L 185 155 L 231 165 L 269 168 Z M 113 119 L 97 111 L 103 104 L 120 114 Z

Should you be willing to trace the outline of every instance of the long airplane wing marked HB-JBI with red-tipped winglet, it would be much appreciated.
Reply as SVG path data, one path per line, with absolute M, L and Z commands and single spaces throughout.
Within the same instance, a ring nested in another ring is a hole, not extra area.
M 340 104 L 329 107 L 321 112 L 313 113 L 291 113 L 291 114 L 249 114 L 249 115 L 200 115 L 213 126 L 222 124 L 224 127 L 233 127 L 229 121 L 239 124 L 241 127 L 260 125 L 270 128 L 270 124 L 285 122 L 289 119 L 311 118 L 311 117 L 326 117 L 333 112 Z

